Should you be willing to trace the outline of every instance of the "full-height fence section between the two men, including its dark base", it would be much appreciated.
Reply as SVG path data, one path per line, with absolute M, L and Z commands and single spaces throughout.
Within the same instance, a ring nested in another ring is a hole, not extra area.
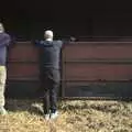
M 8 55 L 7 97 L 34 97 L 38 88 L 37 48 L 31 42 L 18 42 Z

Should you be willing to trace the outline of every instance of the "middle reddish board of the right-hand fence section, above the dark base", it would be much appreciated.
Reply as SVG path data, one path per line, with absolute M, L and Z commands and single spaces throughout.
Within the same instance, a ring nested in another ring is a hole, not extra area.
M 65 80 L 131 80 L 132 65 L 73 63 L 65 66 Z

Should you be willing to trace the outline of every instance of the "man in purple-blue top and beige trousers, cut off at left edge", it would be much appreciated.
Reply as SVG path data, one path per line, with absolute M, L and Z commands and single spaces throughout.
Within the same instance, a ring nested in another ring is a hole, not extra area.
M 7 47 L 10 44 L 10 36 L 4 32 L 2 23 L 0 23 L 0 114 L 7 114 L 4 109 L 4 89 L 7 79 L 6 59 Z

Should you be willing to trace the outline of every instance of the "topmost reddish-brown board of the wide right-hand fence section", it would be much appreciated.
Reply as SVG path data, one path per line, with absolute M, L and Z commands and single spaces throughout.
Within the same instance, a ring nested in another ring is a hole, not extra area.
M 65 46 L 65 61 L 132 59 L 131 43 L 76 43 Z

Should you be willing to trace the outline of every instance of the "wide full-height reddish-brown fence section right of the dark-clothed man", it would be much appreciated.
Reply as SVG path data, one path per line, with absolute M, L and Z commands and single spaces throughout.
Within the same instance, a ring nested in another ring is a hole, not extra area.
M 132 42 L 76 42 L 63 50 L 64 98 L 132 97 Z

